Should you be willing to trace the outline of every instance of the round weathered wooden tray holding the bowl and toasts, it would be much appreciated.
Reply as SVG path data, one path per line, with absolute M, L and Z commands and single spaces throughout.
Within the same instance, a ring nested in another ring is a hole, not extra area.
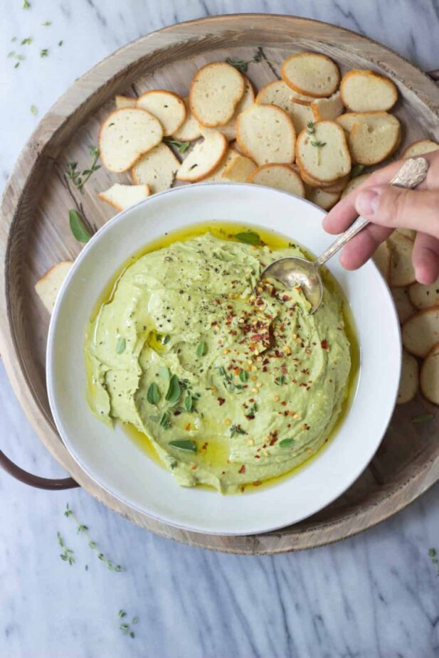
M 401 95 L 395 108 L 404 128 L 401 147 L 421 137 L 439 139 L 439 90 L 420 70 L 384 46 L 342 28 L 292 16 L 216 16 L 141 38 L 80 78 L 29 139 L 1 205 L 1 356 L 16 396 L 44 445 L 90 494 L 139 526 L 193 546 L 230 553 L 281 553 L 319 546 L 395 514 L 439 477 L 439 442 L 433 435 L 438 430 L 438 408 L 421 397 L 398 407 L 369 468 L 344 496 L 300 524 L 242 537 L 182 531 L 117 501 L 98 487 L 65 450 L 46 394 L 49 317 L 33 285 L 58 260 L 78 255 L 80 244 L 68 226 L 69 208 L 80 207 L 94 228 L 115 214 L 110 206 L 97 200 L 96 192 L 116 180 L 128 180 L 127 175 L 115 176 L 100 169 L 81 195 L 68 186 L 63 171 L 68 161 L 78 161 L 81 169 L 88 165 L 88 149 L 96 144 L 98 127 L 113 109 L 116 93 L 139 95 L 153 87 L 165 87 L 185 95 L 194 72 L 204 63 L 226 57 L 253 60 L 257 53 L 261 61 L 248 65 L 248 76 L 260 88 L 278 77 L 276 63 L 303 50 L 326 53 L 342 71 L 372 68 L 388 75 Z M 435 418 L 412 422 L 413 417 L 425 412 L 433 413 Z

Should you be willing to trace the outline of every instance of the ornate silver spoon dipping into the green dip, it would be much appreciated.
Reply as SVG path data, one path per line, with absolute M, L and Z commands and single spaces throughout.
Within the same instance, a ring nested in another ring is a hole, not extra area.
M 396 176 L 393 176 L 389 185 L 413 189 L 422 183 L 425 176 L 427 176 L 427 171 L 428 161 L 425 158 L 409 158 L 401 166 Z M 319 268 L 368 224 L 369 221 L 360 216 L 313 262 L 297 257 L 279 258 L 268 267 L 265 267 L 260 278 L 277 279 L 290 289 L 300 285 L 305 297 L 311 304 L 311 314 L 313 314 L 319 308 L 323 297 L 322 277 Z

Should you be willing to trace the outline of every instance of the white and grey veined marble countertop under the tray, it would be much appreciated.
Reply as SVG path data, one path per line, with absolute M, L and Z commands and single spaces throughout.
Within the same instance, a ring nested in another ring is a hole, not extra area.
M 92 65 L 150 31 L 208 14 L 295 14 L 439 67 L 438 0 L 3 0 L 0 176 L 38 119 Z M 26 4 L 26 3 L 25 3 Z M 43 25 L 47 21 L 51 25 Z M 23 38 L 31 44 L 20 46 Z M 11 41 L 13 38 L 16 41 Z M 58 45 L 62 41 L 62 45 Z M 48 56 L 40 52 L 48 49 Z M 23 53 L 17 60 L 9 51 Z M 18 63 L 18 66 L 16 64 Z M 36 107 L 36 115 L 31 112 Z M 0 447 L 62 475 L 0 364 Z M 0 472 L 0 655 L 5 658 L 430 658 L 439 655 L 438 487 L 393 519 L 333 546 L 275 557 L 209 553 L 143 531 L 86 492 L 47 493 Z M 97 558 L 73 519 L 125 571 Z M 75 563 L 60 559 L 57 531 Z M 127 612 L 120 620 L 119 610 Z M 134 638 L 120 624 L 132 617 Z

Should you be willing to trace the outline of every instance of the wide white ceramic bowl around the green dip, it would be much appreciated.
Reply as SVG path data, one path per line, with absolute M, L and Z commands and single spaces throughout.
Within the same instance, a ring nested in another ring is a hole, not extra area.
M 258 185 L 200 184 L 147 198 L 117 215 L 85 246 L 65 280 L 48 335 L 47 386 L 53 418 L 80 467 L 112 495 L 167 524 L 210 534 L 255 534 L 293 524 L 339 497 L 374 456 L 393 412 L 401 369 L 398 318 L 372 262 L 337 277 L 354 314 L 361 349 L 355 399 L 327 448 L 297 474 L 253 493 L 186 489 L 122 428 L 92 415 L 85 400 L 83 339 L 92 308 L 115 270 L 142 245 L 183 225 L 236 221 L 284 233 L 318 254 L 331 242 L 324 212 Z

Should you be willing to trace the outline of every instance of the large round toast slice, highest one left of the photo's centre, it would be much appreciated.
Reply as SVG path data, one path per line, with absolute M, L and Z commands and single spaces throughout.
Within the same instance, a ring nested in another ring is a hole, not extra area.
M 206 64 L 196 72 L 191 83 L 191 112 L 203 126 L 223 126 L 235 114 L 244 91 L 243 75 L 236 68 L 225 62 Z

